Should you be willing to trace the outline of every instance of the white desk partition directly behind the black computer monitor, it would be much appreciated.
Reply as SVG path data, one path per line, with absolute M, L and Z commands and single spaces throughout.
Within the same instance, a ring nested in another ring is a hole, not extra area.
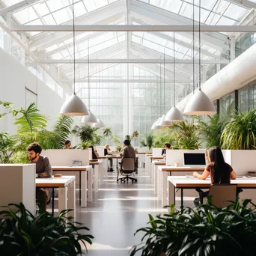
M 174 166 L 174 163 L 179 163 L 179 166 L 183 166 L 183 153 L 205 153 L 205 149 L 201 150 L 166 150 L 166 165 Z

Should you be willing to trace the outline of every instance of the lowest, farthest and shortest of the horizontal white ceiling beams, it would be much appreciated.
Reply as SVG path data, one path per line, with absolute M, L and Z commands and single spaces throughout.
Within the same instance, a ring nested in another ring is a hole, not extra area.
M 157 83 L 159 82 L 159 79 L 89 79 L 90 82 L 147 82 L 147 83 Z M 73 83 L 73 80 L 70 79 L 63 79 L 61 82 L 65 83 Z M 88 82 L 88 79 L 76 79 L 76 82 Z M 163 82 L 163 80 L 162 80 Z M 165 82 L 172 83 L 174 82 L 173 79 L 165 79 Z M 184 84 L 190 84 L 192 83 L 192 80 L 189 79 L 178 79 L 175 81 L 177 83 L 184 83 Z M 90 87 L 91 88 L 91 87 Z

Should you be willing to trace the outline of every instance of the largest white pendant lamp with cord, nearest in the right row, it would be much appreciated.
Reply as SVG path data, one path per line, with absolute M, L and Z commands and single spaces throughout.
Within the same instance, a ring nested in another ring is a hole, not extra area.
M 193 37 L 194 37 L 194 26 L 195 26 L 195 3 L 193 0 Z M 186 103 L 184 109 L 185 115 L 212 115 L 216 114 L 215 106 L 213 102 L 201 91 L 201 0 L 199 0 L 199 91 L 192 95 L 189 102 Z M 195 65 L 195 42 L 193 41 L 193 66 Z M 193 87 L 195 85 L 195 73 L 193 73 Z M 193 90 L 194 91 L 194 90 Z

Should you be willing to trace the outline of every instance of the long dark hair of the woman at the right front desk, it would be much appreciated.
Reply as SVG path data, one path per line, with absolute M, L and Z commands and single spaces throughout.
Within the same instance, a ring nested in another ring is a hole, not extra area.
M 213 162 L 213 180 L 216 183 L 228 183 L 230 172 L 220 147 L 211 147 L 209 150 L 210 161 Z

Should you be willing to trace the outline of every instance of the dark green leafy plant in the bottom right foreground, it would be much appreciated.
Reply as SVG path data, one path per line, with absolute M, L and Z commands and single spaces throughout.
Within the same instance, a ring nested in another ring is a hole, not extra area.
M 239 199 L 229 207 L 203 204 L 197 209 L 186 207 L 183 213 L 171 212 L 154 219 L 150 226 L 139 229 L 144 236 L 130 256 L 210 256 L 255 255 L 256 207 L 251 200 Z

